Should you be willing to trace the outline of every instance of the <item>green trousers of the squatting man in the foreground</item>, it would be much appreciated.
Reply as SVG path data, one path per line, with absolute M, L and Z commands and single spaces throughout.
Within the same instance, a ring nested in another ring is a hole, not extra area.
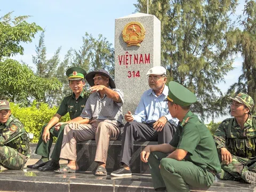
M 165 158 L 166 156 L 158 151 L 149 155 L 148 164 L 155 189 L 166 187 L 168 192 L 185 192 L 189 191 L 189 186 L 198 188 L 211 186 L 214 180 L 212 173 L 204 171 L 192 162 L 177 161 Z

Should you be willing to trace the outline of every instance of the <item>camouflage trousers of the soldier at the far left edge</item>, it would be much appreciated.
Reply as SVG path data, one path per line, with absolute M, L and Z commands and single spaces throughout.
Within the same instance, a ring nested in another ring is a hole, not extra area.
M 0 146 L 0 164 L 6 169 L 22 169 L 27 160 L 28 157 L 18 153 L 17 150 L 7 146 Z

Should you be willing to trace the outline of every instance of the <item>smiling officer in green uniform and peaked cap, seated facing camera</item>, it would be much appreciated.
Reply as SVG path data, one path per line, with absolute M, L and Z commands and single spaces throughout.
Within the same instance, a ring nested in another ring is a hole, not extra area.
M 83 87 L 85 86 L 84 77 L 86 71 L 81 67 L 71 67 L 66 71 L 69 81 L 69 87 L 72 94 L 65 97 L 57 111 L 48 124 L 43 126 L 35 153 L 41 155 L 34 165 L 28 165 L 28 168 L 38 169 L 40 171 L 53 171 L 60 167 L 60 150 L 63 139 L 63 129 L 66 124 L 58 123 L 60 118 L 69 113 L 70 119 L 79 117 L 87 101 L 87 96 Z M 51 160 L 49 161 L 50 149 L 53 137 L 58 137 L 52 151 Z

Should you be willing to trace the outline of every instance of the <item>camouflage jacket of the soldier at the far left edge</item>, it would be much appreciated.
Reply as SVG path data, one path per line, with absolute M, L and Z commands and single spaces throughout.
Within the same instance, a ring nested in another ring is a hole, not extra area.
M 29 137 L 19 119 L 11 115 L 5 124 L 0 123 L 0 146 L 8 146 L 19 153 L 30 155 Z

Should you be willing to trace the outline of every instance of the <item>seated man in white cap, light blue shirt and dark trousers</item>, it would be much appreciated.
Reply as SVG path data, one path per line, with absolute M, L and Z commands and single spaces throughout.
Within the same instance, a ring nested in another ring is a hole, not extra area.
M 125 114 L 126 124 L 122 138 L 121 164 L 123 167 L 113 171 L 111 176 L 131 175 L 130 162 L 134 141 L 158 141 L 158 144 L 169 143 L 176 131 L 177 118 L 172 118 L 167 102 L 166 69 L 161 66 L 150 68 L 147 72 L 149 90 L 145 91 L 139 105 L 132 115 Z

